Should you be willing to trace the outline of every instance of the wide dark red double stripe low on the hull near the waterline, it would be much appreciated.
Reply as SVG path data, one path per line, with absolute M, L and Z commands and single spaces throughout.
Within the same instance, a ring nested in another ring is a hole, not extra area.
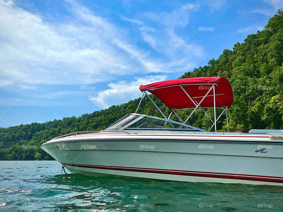
M 131 171 L 131 172 L 144 172 L 144 173 L 157 173 L 157 174 L 171 174 L 171 175 L 185 175 L 195 177 L 209 177 L 209 178 L 225 178 L 235 180 L 251 180 L 261 182 L 272 182 L 272 183 L 283 183 L 281 177 L 271 177 L 262 175 L 237 175 L 231 173 L 217 173 L 217 172 L 197 172 L 194 171 L 183 171 L 183 170 L 167 170 L 167 169 L 149 169 L 149 168 L 136 168 L 136 167 L 119 167 L 119 166 L 102 166 L 102 165 L 81 165 L 81 164 L 70 164 L 62 163 L 63 165 L 82 167 L 82 168 L 95 168 L 105 170 L 118 170 L 118 171 Z M 225 175 L 223 175 L 225 174 Z M 227 174 L 227 175 L 226 175 Z M 264 178 L 259 178 L 264 177 Z M 281 179 L 274 179 L 281 178 Z

